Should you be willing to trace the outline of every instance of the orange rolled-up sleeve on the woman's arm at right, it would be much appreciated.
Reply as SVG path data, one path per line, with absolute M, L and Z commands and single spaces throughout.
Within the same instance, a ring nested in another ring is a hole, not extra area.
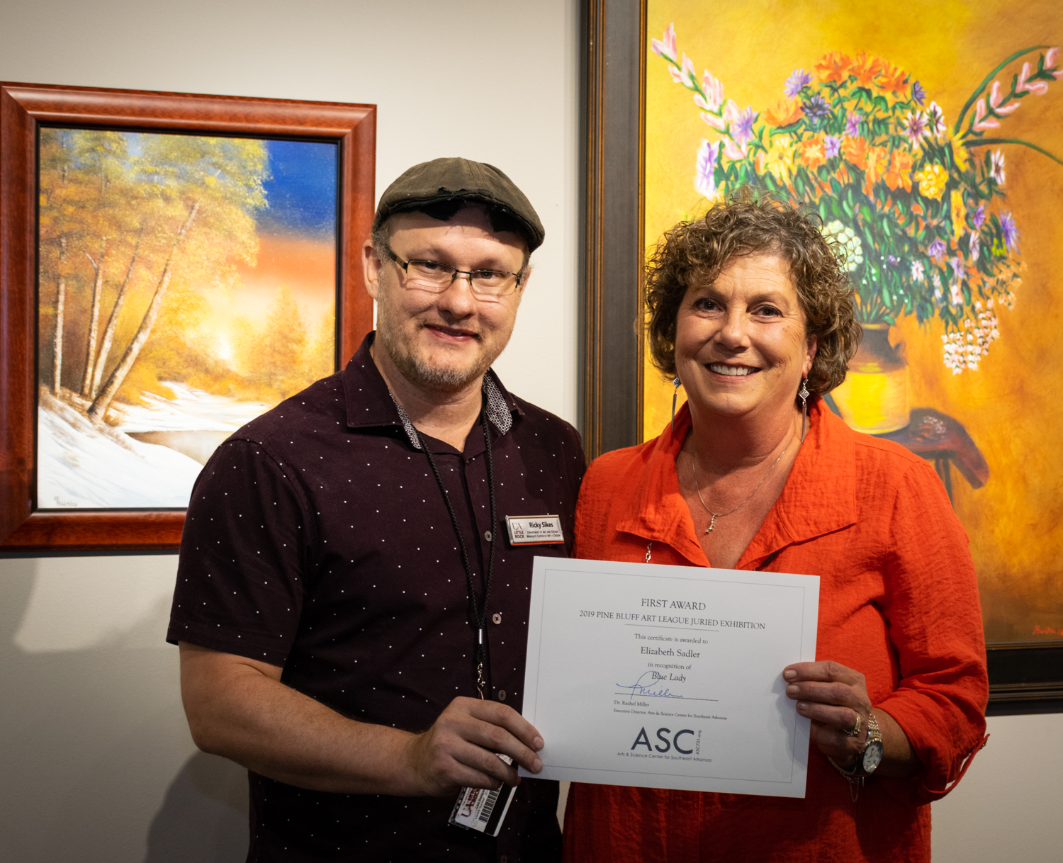
M 893 502 L 885 607 L 899 680 L 880 707 L 897 721 L 925 771 L 883 778 L 912 806 L 947 794 L 985 742 L 989 676 L 967 536 L 926 462 L 904 474 Z

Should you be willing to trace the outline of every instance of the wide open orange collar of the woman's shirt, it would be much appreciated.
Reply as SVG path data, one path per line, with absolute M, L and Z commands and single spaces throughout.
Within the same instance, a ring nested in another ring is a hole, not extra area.
M 753 569 L 774 552 L 856 522 L 856 442 L 822 399 L 809 406 L 809 430 L 782 493 L 738 562 Z M 710 565 L 679 491 L 675 459 L 690 430 L 684 405 L 646 453 L 645 469 L 617 529 L 662 542 L 698 566 Z

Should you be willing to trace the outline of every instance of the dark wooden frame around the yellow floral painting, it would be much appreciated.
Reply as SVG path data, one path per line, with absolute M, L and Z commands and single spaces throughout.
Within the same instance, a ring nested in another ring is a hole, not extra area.
M 642 440 L 645 0 L 585 0 L 586 260 L 583 428 L 588 458 Z M 988 645 L 990 714 L 1063 711 L 1063 644 Z

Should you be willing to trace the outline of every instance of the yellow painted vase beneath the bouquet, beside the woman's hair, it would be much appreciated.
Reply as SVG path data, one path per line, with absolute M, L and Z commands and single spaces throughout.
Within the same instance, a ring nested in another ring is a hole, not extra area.
M 848 374 L 830 393 L 850 428 L 882 435 L 908 425 L 908 361 L 899 349 L 890 344 L 889 324 L 863 325 L 863 340 L 849 360 Z

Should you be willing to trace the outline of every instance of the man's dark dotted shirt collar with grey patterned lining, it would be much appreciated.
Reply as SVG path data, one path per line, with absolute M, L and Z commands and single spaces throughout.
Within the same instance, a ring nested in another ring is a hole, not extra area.
M 421 449 L 421 437 L 409 416 L 395 400 L 384 380 L 369 349 L 375 333 L 370 333 L 343 369 L 343 392 L 347 400 L 347 424 L 350 428 L 401 425 L 410 446 Z M 521 412 L 517 401 L 502 385 L 492 369 L 484 375 L 484 399 L 487 418 L 500 435 L 512 428 L 513 411 Z

